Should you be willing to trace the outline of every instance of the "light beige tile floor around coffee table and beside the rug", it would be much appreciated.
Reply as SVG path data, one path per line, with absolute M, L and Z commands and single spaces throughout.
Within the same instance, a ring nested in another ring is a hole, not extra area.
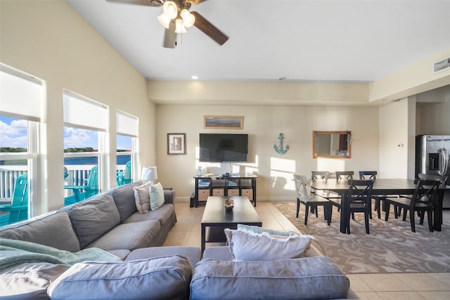
M 203 209 L 201 205 L 189 207 L 188 202 L 176 202 L 178 222 L 170 230 L 164 245 L 200 247 Z M 258 202 L 256 210 L 262 226 L 298 231 L 271 202 Z M 206 247 L 208 245 L 212 244 Z M 348 277 L 350 286 L 362 300 L 450 299 L 450 273 L 348 274 Z

